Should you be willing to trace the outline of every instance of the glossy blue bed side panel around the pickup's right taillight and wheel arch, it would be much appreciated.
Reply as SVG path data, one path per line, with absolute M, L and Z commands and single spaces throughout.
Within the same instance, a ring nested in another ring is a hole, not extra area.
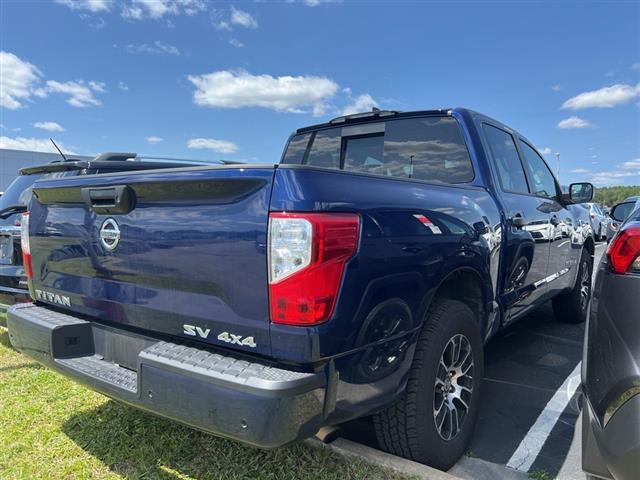
M 375 341 L 363 331 L 365 318 L 385 298 L 401 298 L 411 309 L 411 322 L 395 333 L 414 332 L 425 299 L 456 270 L 474 272 L 486 300 L 495 298 L 502 232 L 499 211 L 483 188 L 281 166 L 271 211 L 361 217 L 360 246 L 347 265 L 333 319 L 303 329 L 272 324 L 275 356 L 319 360 L 362 348 Z

